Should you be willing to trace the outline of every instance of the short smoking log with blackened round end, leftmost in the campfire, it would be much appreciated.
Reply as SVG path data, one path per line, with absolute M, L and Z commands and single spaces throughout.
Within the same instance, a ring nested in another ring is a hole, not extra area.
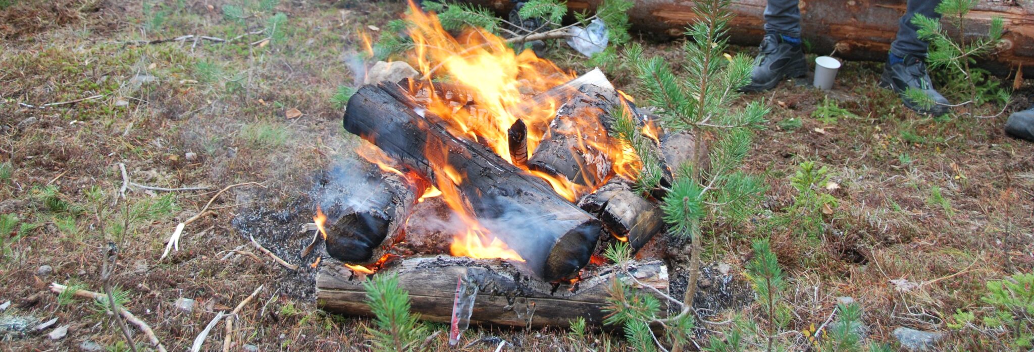
M 370 264 L 398 239 L 426 184 L 391 166 L 353 160 L 328 171 L 320 186 L 315 221 L 327 254 Z

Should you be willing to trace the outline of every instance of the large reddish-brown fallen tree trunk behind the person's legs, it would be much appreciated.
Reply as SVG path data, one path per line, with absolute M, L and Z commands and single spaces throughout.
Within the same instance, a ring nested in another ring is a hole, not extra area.
M 498 13 L 508 12 L 513 6 L 510 0 L 463 1 Z M 603 1 L 569 0 L 567 4 L 572 11 L 595 11 Z M 765 0 L 733 2 L 730 9 L 736 17 L 729 24 L 731 42 L 741 45 L 761 42 L 765 4 Z M 802 0 L 799 5 L 802 33 L 814 53 L 826 54 L 835 49 L 837 55 L 845 59 L 883 61 L 898 33 L 905 4 L 905 0 Z M 628 14 L 635 29 L 681 36 L 685 28 L 696 21 L 695 5 L 694 1 L 640 0 Z M 994 17 L 1004 20 L 1004 41 L 998 54 L 977 64 L 1000 75 L 1023 65 L 1026 74 L 1034 75 L 1034 2 L 980 1 L 964 21 L 966 33 L 951 30 L 949 34 L 956 40 L 974 40 L 987 33 Z

